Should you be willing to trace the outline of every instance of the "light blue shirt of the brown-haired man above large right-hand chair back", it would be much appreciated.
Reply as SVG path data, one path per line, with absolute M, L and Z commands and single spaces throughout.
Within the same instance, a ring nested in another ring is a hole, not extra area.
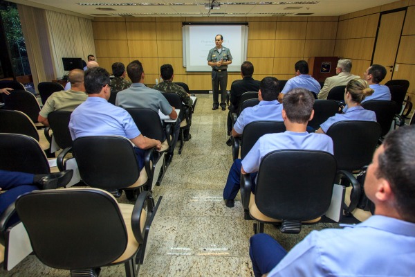
M 282 149 L 321 150 L 333 154 L 333 141 L 326 134 L 286 131 L 261 136 L 242 160 L 243 170 L 257 172 L 262 158 L 271 151 Z

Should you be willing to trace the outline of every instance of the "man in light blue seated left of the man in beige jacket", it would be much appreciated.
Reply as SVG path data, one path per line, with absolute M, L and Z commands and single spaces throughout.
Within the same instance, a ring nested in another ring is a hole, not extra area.
M 320 83 L 317 82 L 311 75 L 308 75 L 308 64 L 305 60 L 300 60 L 295 63 L 295 77 L 291 78 L 286 82 L 284 89 L 281 91 L 281 95 L 279 98 L 284 97 L 284 94 L 291 89 L 295 89 L 297 87 L 301 87 L 303 89 L 308 89 L 309 91 L 315 93 L 317 95 L 322 88 Z

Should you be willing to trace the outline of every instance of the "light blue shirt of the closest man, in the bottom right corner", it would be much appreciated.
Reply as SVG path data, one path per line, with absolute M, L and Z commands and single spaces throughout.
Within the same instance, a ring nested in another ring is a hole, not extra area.
M 268 277 L 414 276 L 415 224 L 374 215 L 356 226 L 312 231 Z

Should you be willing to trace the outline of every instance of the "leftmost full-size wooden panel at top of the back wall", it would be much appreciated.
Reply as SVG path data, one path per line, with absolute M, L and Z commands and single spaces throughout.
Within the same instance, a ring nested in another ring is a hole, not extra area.
M 92 22 L 93 39 L 127 39 L 125 22 Z

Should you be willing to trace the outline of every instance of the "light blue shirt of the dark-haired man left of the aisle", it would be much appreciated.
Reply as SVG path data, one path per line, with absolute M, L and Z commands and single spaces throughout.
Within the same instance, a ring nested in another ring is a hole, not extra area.
M 129 113 L 104 98 L 89 97 L 71 115 L 72 139 L 80 136 L 123 136 L 134 139 L 141 133 Z

